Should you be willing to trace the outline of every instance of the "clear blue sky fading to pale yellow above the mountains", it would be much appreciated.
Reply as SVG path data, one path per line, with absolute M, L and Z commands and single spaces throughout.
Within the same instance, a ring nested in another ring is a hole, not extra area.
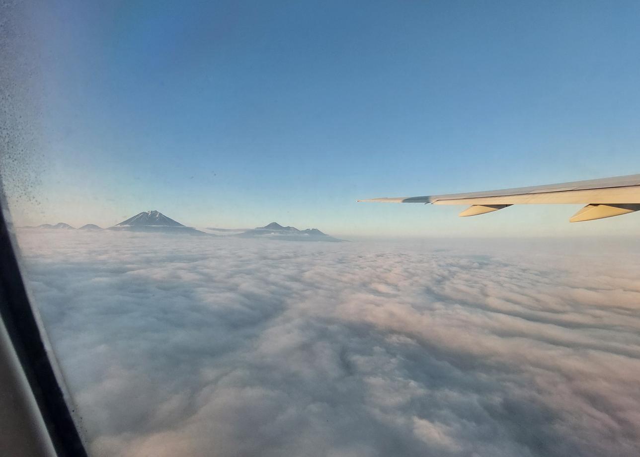
M 568 223 L 580 205 L 460 219 L 355 200 L 640 172 L 639 19 L 637 2 L 36 4 L 39 176 L 13 216 L 636 234 L 639 214 Z

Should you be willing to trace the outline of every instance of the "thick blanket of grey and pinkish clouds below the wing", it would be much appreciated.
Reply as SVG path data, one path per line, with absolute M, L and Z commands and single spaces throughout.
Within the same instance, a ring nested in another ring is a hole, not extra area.
M 19 233 L 94 456 L 640 455 L 640 248 Z

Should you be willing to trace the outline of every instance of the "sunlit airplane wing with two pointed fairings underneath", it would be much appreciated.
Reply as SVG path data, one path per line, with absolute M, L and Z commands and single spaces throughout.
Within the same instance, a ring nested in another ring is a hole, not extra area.
M 528 188 L 445 195 L 371 198 L 358 202 L 471 205 L 460 216 L 476 216 L 522 204 L 586 204 L 570 222 L 620 216 L 640 210 L 640 174 Z

